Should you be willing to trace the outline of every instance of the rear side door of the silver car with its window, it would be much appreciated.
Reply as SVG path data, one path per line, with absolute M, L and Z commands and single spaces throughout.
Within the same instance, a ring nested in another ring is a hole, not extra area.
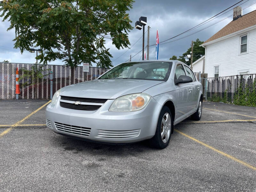
M 191 86 L 193 89 L 193 97 L 192 97 L 192 103 L 191 103 L 191 110 L 195 111 L 197 109 L 198 104 L 198 98 L 200 93 L 200 83 L 196 80 L 196 77 L 192 70 L 188 66 L 184 66 L 187 76 L 191 77 L 193 79 L 193 82 L 191 82 Z

